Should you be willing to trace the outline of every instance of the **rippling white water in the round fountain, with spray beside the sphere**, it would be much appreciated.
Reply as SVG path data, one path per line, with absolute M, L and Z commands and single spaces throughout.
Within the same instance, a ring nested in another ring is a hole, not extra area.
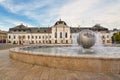
M 33 51 L 33 52 L 35 52 L 35 54 L 39 54 L 39 52 L 40 52 L 43 54 L 62 55 L 62 56 L 66 56 L 66 55 L 69 55 L 69 56 L 89 55 L 89 56 L 95 56 L 95 57 L 100 57 L 100 56 L 120 57 L 120 48 L 119 47 L 103 46 L 102 39 L 101 39 L 101 33 L 97 32 L 95 34 L 96 34 L 96 44 L 89 49 L 84 49 L 81 46 L 69 46 L 69 47 L 50 47 L 49 46 L 49 47 L 31 48 L 31 49 L 26 49 L 26 50 Z M 84 38 L 84 35 L 82 35 L 82 38 Z M 92 42 L 92 40 L 89 39 L 89 37 L 84 38 L 83 42 L 86 39 L 88 39 L 88 41 Z M 76 41 L 77 41 L 77 39 L 76 39 Z

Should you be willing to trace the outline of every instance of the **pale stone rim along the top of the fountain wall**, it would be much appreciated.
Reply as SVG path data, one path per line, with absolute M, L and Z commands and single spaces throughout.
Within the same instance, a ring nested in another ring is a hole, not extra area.
M 92 56 L 90 54 L 88 55 L 61 55 L 61 54 L 44 54 L 44 53 L 40 53 L 40 52 L 32 52 L 32 51 L 23 51 L 23 50 L 19 50 L 20 48 L 27 48 L 30 46 L 26 46 L 26 47 L 16 47 L 16 48 L 11 48 L 9 51 L 10 52 L 17 52 L 17 53 L 22 53 L 25 55 L 37 55 L 37 56 L 51 56 L 51 57 L 68 57 L 68 58 L 85 58 L 85 59 L 115 59 L 115 60 L 120 60 L 120 57 L 114 57 L 114 56 Z M 55 47 L 55 46 L 32 46 L 32 47 Z M 57 47 L 63 47 L 63 46 L 57 46 Z M 65 46 L 64 46 L 65 47 Z M 36 54 L 37 53 L 37 54 Z

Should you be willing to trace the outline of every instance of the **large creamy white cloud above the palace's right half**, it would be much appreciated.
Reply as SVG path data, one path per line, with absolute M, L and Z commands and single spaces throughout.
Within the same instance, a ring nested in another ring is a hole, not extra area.
M 59 13 L 59 17 L 73 26 L 100 23 L 111 29 L 120 20 L 120 1 L 104 3 L 101 0 L 76 0 L 64 5 Z

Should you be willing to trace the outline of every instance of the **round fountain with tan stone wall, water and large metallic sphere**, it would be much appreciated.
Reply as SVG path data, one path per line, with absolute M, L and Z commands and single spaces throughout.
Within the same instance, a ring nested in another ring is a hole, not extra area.
M 10 57 L 18 61 L 46 67 L 120 73 L 120 48 L 94 46 L 96 38 L 94 32 L 83 30 L 77 37 L 77 42 L 81 46 L 19 47 L 10 49 Z

